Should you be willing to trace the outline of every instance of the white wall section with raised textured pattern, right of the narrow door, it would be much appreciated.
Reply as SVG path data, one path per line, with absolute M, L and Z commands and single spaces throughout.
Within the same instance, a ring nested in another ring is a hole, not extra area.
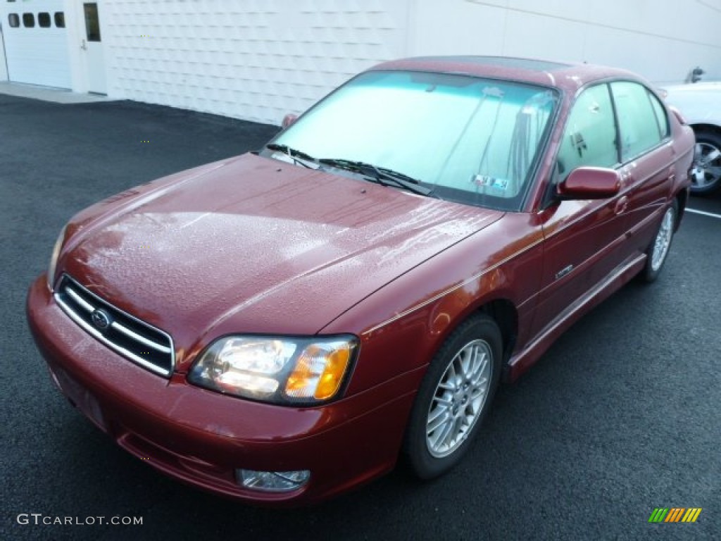
M 108 94 L 280 123 L 406 53 L 407 0 L 114 0 Z

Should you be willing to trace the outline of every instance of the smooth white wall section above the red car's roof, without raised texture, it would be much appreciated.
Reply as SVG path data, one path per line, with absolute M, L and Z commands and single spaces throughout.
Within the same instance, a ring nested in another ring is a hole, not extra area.
M 412 54 L 498 54 L 721 79 L 721 0 L 415 0 Z

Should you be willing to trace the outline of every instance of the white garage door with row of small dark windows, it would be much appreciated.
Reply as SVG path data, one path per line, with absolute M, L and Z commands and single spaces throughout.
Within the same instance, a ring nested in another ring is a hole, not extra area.
M 0 17 L 9 79 L 70 88 L 63 0 L 0 0 Z

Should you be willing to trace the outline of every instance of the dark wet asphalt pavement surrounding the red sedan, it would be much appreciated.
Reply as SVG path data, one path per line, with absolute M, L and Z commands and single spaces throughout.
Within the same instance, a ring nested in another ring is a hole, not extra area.
M 656 283 L 624 287 L 502 387 L 464 462 L 432 483 L 399 468 L 311 509 L 256 509 L 165 478 L 74 410 L 24 308 L 61 226 L 276 130 L 136 102 L 0 95 L 1 540 L 721 539 L 721 194 L 691 200 L 706 214 L 686 215 Z M 650 524 L 657 507 L 702 512 Z M 89 524 L 99 516 L 142 524 Z

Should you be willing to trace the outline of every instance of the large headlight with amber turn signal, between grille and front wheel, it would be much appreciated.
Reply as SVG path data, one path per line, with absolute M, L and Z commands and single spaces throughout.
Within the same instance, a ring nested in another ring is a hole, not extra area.
M 357 351 L 351 335 L 229 336 L 205 350 L 188 381 L 263 402 L 318 404 L 340 391 Z

